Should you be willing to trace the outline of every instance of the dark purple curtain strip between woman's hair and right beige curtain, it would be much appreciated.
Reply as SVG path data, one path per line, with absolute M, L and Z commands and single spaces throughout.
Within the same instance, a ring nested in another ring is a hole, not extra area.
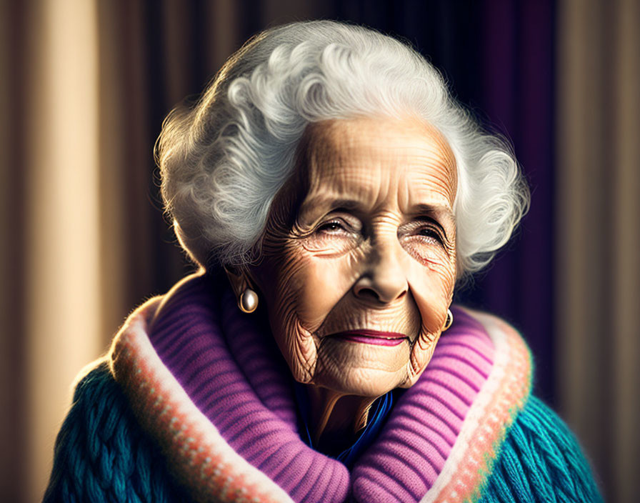
M 514 244 L 474 291 L 529 342 L 537 392 L 554 402 L 554 6 L 550 0 L 486 1 L 482 108 L 514 143 L 531 209 Z

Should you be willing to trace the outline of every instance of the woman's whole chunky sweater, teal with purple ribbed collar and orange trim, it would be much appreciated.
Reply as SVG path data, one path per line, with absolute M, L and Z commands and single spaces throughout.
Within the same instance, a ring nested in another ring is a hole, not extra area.
M 528 353 L 496 319 L 456 310 L 349 473 L 301 442 L 284 360 L 236 313 L 199 277 L 139 309 L 76 388 L 45 501 L 599 500 L 571 433 L 527 402 Z

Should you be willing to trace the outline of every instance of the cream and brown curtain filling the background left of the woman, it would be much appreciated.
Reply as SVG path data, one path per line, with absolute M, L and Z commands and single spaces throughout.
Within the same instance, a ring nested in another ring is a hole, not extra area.
M 239 2 L 202 6 L 199 54 L 212 76 L 246 34 Z M 156 237 L 167 224 L 149 92 L 164 89 L 163 114 L 194 93 L 192 7 L 0 0 L 0 501 L 41 499 L 74 377 L 136 304 L 161 293 L 151 261 L 173 281 L 189 272 L 171 234 Z M 322 15 L 312 2 L 261 11 L 260 26 Z M 161 21 L 159 46 L 149 16 Z M 166 56 L 160 82 L 146 71 L 150 51 Z

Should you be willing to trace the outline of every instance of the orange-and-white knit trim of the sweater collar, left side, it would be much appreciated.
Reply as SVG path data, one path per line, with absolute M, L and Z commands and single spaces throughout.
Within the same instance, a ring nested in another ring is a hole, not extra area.
M 171 459 L 169 469 L 197 502 L 292 503 L 226 443 L 162 364 L 146 336 L 159 302 L 152 299 L 131 314 L 109 356 L 136 418 Z

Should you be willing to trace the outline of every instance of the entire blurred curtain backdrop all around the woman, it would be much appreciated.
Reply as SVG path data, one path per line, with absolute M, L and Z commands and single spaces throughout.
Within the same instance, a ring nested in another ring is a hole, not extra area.
M 164 116 L 251 34 L 319 17 L 409 41 L 513 142 L 531 211 L 459 300 L 521 329 L 607 500 L 636 501 L 636 0 L 0 0 L 0 499 L 41 498 L 74 376 L 192 270 L 161 212 Z

